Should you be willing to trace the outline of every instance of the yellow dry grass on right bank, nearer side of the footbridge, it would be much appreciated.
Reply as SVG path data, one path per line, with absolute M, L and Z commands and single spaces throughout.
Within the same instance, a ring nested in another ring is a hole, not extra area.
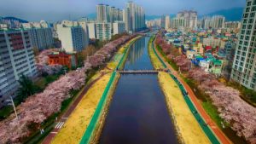
M 182 136 L 183 141 L 191 144 L 211 143 L 190 112 L 174 80 L 166 72 L 160 72 L 158 78 L 161 89 L 166 95 L 167 107 L 172 111 L 179 135 Z

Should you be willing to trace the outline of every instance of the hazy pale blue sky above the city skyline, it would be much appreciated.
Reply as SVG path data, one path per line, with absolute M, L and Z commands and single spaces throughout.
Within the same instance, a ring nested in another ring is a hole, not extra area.
M 176 14 L 179 10 L 194 9 L 208 14 L 220 9 L 244 7 L 246 0 L 134 0 L 146 14 Z M 77 19 L 96 13 L 96 4 L 108 3 L 119 9 L 127 0 L 1 0 L 0 16 L 15 16 L 25 20 Z

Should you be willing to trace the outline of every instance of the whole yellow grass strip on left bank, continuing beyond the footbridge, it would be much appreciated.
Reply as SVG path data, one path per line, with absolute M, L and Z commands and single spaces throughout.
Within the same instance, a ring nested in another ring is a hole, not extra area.
M 111 72 L 118 66 L 122 55 L 125 53 L 125 48 L 137 38 L 138 37 L 135 37 L 126 43 L 125 46 L 120 48 L 116 55 L 113 56 L 113 59 L 108 62 L 108 65 L 101 71 L 106 72 L 107 74 L 100 78 L 96 84 L 93 84 L 89 91 L 84 95 L 83 99 L 79 102 L 78 107 L 75 108 L 74 112 L 67 119 L 66 124 L 63 125 L 63 128 L 55 136 L 52 143 L 79 143 L 84 135 L 84 130 L 86 130 L 90 124 L 90 120 L 96 111 L 97 104 L 102 97 L 103 91 L 107 87 L 112 74 Z M 100 74 L 96 74 L 92 79 L 96 79 L 99 76 Z

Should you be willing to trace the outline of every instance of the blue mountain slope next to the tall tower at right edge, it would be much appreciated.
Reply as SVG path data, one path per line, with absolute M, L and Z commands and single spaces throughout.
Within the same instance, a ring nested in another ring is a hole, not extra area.
M 224 15 L 226 21 L 241 21 L 243 8 L 233 8 L 233 9 L 223 9 L 212 12 L 210 14 L 200 15 L 203 16 L 212 16 L 212 15 Z

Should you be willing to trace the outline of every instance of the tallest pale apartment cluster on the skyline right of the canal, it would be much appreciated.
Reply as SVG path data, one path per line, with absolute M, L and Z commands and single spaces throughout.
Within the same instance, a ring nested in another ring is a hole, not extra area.
M 197 12 L 193 10 L 184 10 L 177 13 L 177 18 L 185 20 L 185 27 L 196 28 L 197 26 Z

